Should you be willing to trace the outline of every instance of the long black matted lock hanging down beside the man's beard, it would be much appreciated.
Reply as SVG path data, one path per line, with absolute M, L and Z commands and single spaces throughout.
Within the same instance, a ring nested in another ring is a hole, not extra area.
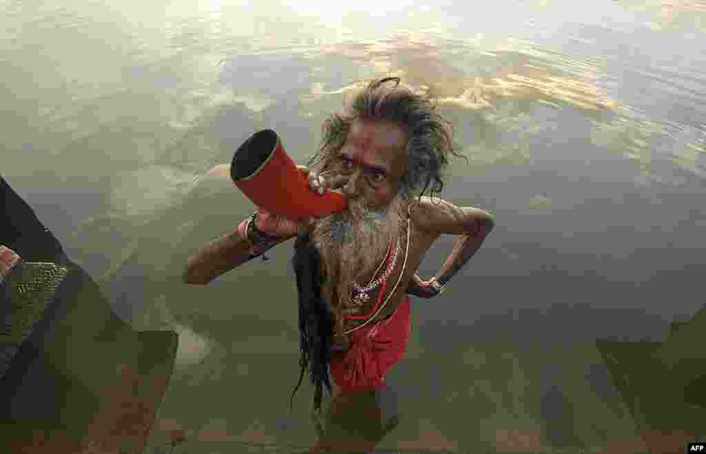
M 292 410 L 294 394 L 299 390 L 304 373 L 309 369 L 309 379 L 314 386 L 313 413 L 321 410 L 323 385 L 331 394 L 328 375 L 330 363 L 331 339 L 333 337 L 333 316 L 329 305 L 321 296 L 323 278 L 321 274 L 321 256 L 311 242 L 310 233 L 302 233 L 294 243 L 292 259 L 294 273 L 297 275 L 299 296 L 299 383 L 289 399 Z

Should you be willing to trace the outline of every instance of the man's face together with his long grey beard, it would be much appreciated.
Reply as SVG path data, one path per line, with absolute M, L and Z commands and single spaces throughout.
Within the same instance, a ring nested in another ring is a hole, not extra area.
M 328 276 L 324 292 L 338 309 L 359 310 L 349 306 L 352 281 L 371 279 L 390 243 L 400 238 L 406 205 L 398 191 L 407 171 L 406 147 L 399 126 L 358 121 L 325 166 L 348 178 L 341 191 L 349 209 L 318 219 L 312 233 Z

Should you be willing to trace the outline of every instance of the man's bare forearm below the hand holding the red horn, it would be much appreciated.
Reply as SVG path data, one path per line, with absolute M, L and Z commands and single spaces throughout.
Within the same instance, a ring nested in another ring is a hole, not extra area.
M 258 253 L 266 252 L 295 236 L 297 235 L 277 238 L 275 242 L 268 245 L 257 245 L 259 246 Z M 186 270 L 184 270 L 182 278 L 185 283 L 205 286 L 226 271 L 230 271 L 236 266 L 256 257 L 256 255 L 250 253 L 252 247 L 253 245 L 250 239 L 246 238 L 245 233 L 235 229 L 220 238 L 206 243 L 199 248 L 196 254 L 190 255 L 189 259 L 186 260 Z

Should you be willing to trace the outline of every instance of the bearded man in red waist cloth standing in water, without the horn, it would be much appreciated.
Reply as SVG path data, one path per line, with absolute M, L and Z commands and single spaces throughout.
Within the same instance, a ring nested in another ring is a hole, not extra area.
M 390 80 L 393 87 L 385 85 Z M 452 130 L 431 100 L 399 84 L 399 78 L 385 78 L 354 94 L 342 112 L 323 124 L 311 171 L 301 168 L 313 190 L 340 191 L 349 204 L 345 212 L 295 223 L 258 210 L 232 233 L 203 245 L 189 257 L 184 273 L 186 283 L 203 285 L 298 236 L 293 263 L 301 376 L 309 369 L 318 411 L 322 386 L 330 390 L 328 377 L 333 375 L 337 389 L 329 407 L 330 427 L 352 412 L 347 409 L 354 403 L 379 400 L 385 374 L 405 352 L 407 294 L 431 298 L 441 293 L 493 228 L 487 211 L 423 196 L 430 184 L 432 195 L 441 192 L 448 154 L 458 154 Z M 416 274 L 419 264 L 442 234 L 460 238 L 436 276 L 423 281 Z M 368 407 L 359 419 L 380 428 L 378 410 Z M 351 431 L 361 434 L 361 429 Z M 381 433 L 354 441 L 338 438 L 327 434 L 313 452 L 336 443 L 365 452 Z

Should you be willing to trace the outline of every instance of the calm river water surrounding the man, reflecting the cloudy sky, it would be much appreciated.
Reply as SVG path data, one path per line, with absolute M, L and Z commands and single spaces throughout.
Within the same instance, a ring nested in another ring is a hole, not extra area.
M 398 75 L 433 90 L 469 158 L 452 161 L 443 197 L 497 225 L 443 297 L 413 301 L 390 374 L 407 412 L 397 447 L 482 450 L 513 428 L 545 447 L 630 438 L 624 407 L 614 420 L 591 403 L 615 397 L 599 358 L 538 366 L 520 350 L 661 340 L 702 307 L 706 3 L 335 3 L 0 1 L 0 171 L 121 317 L 180 333 L 157 428 L 193 443 L 313 437 L 309 395 L 282 423 L 298 377 L 291 247 L 208 287 L 179 276 L 251 212 L 209 168 L 263 128 L 304 163 L 348 87 Z M 441 238 L 421 276 L 452 246 Z M 470 367 L 478 355 L 486 366 Z M 604 391 L 556 397 L 551 377 L 569 369 Z M 517 404 L 529 395 L 537 411 Z M 578 438 L 546 435 L 588 407 L 570 422 Z M 184 452 L 215 452 L 197 446 Z

